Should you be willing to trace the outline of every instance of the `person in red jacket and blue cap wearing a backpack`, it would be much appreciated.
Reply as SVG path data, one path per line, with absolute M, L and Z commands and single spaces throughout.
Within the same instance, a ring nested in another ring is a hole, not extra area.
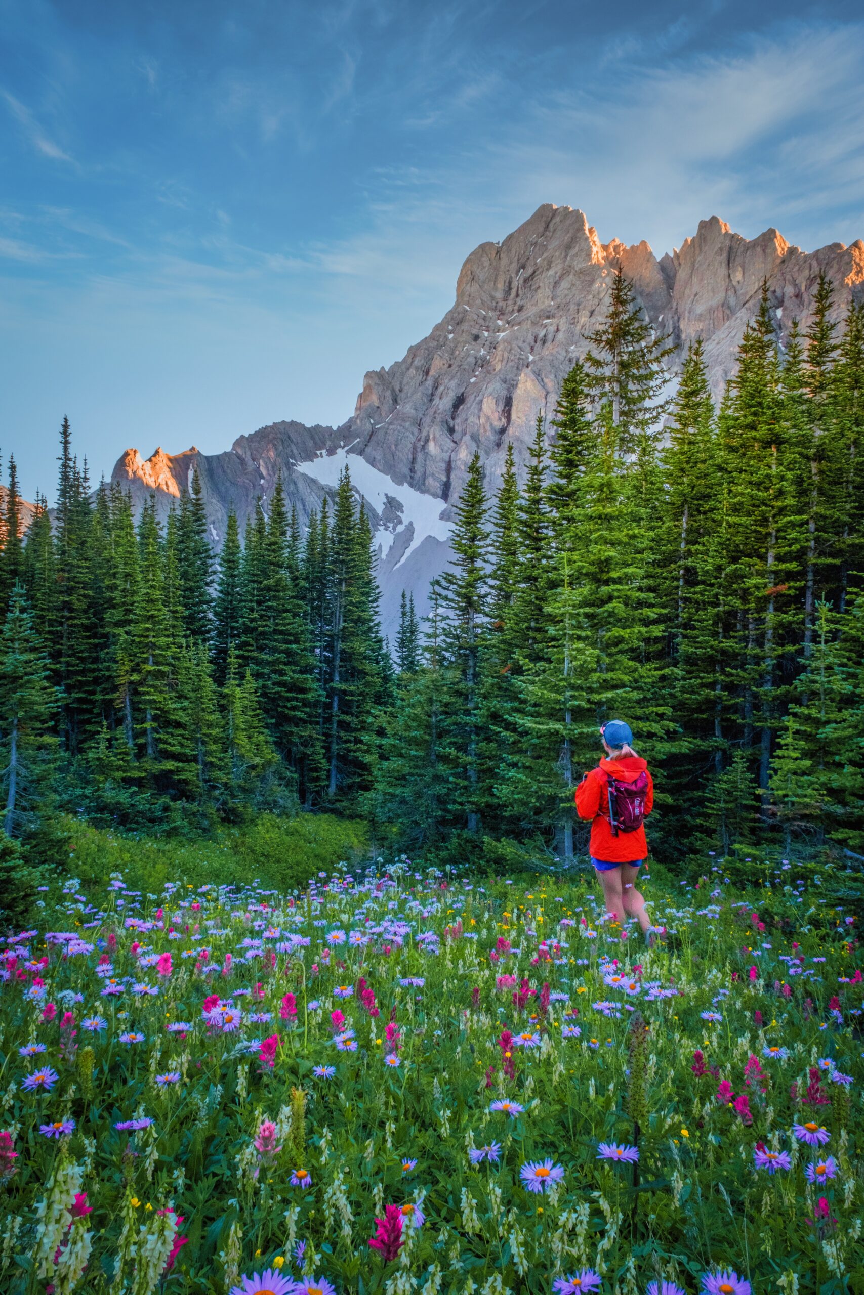
M 654 783 L 631 746 L 628 724 L 610 720 L 600 736 L 608 759 L 585 773 L 576 787 L 576 813 L 592 820 L 591 862 L 604 890 L 606 912 L 622 925 L 626 916 L 635 917 L 645 943 L 653 945 L 654 929 L 636 878 L 648 855 L 644 818 L 652 812 Z

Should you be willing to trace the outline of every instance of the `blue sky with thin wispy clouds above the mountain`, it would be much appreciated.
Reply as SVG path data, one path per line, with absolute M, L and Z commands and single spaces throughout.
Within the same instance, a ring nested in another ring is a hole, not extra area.
M 854 4 L 0 0 L 0 453 L 334 422 L 541 202 L 864 236 Z

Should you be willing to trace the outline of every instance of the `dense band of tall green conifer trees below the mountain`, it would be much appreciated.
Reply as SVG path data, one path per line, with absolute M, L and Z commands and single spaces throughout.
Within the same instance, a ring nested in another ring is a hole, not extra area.
M 864 852 L 864 308 L 820 276 L 782 346 L 767 286 L 719 404 L 620 269 L 525 471 L 478 455 L 429 614 L 383 641 L 347 471 L 281 480 L 215 558 L 198 474 L 161 515 L 96 492 L 65 422 L 56 510 L 4 495 L 0 761 L 10 838 L 52 815 L 207 829 L 350 808 L 394 848 L 584 850 L 573 789 L 627 717 L 666 859 Z

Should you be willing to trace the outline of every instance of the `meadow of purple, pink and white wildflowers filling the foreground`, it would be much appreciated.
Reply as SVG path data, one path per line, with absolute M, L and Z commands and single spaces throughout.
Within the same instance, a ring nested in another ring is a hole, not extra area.
M 791 865 L 114 875 L 0 952 L 4 1295 L 864 1291 L 855 923 Z

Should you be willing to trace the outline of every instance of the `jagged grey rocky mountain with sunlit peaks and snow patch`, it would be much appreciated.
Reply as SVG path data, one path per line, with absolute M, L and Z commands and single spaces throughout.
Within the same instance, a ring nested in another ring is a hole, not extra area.
M 404 359 L 365 374 L 354 414 L 339 427 L 277 422 L 238 436 L 220 455 L 193 447 L 142 460 L 127 449 L 113 478 L 136 502 L 155 492 L 166 513 L 194 469 L 218 546 L 228 509 L 242 526 L 256 497 L 267 505 L 280 471 L 304 522 L 347 464 L 381 541 L 382 615 L 391 631 L 402 589 L 412 589 L 422 610 L 429 578 L 447 562 L 448 505 L 474 452 L 490 490 L 508 443 L 523 464 L 538 411 L 552 414 L 563 376 L 587 350 L 584 334 L 605 315 L 617 268 L 657 332 L 670 334 L 672 370 L 688 343 L 703 341 L 716 396 L 763 280 L 781 341 L 794 319 L 806 326 L 821 271 L 836 285 L 837 319 L 850 295 L 864 294 L 860 240 L 804 253 L 776 229 L 747 240 L 712 216 L 658 260 L 646 242 L 602 243 L 582 211 L 547 203 L 501 243 L 470 254 L 444 319 Z

